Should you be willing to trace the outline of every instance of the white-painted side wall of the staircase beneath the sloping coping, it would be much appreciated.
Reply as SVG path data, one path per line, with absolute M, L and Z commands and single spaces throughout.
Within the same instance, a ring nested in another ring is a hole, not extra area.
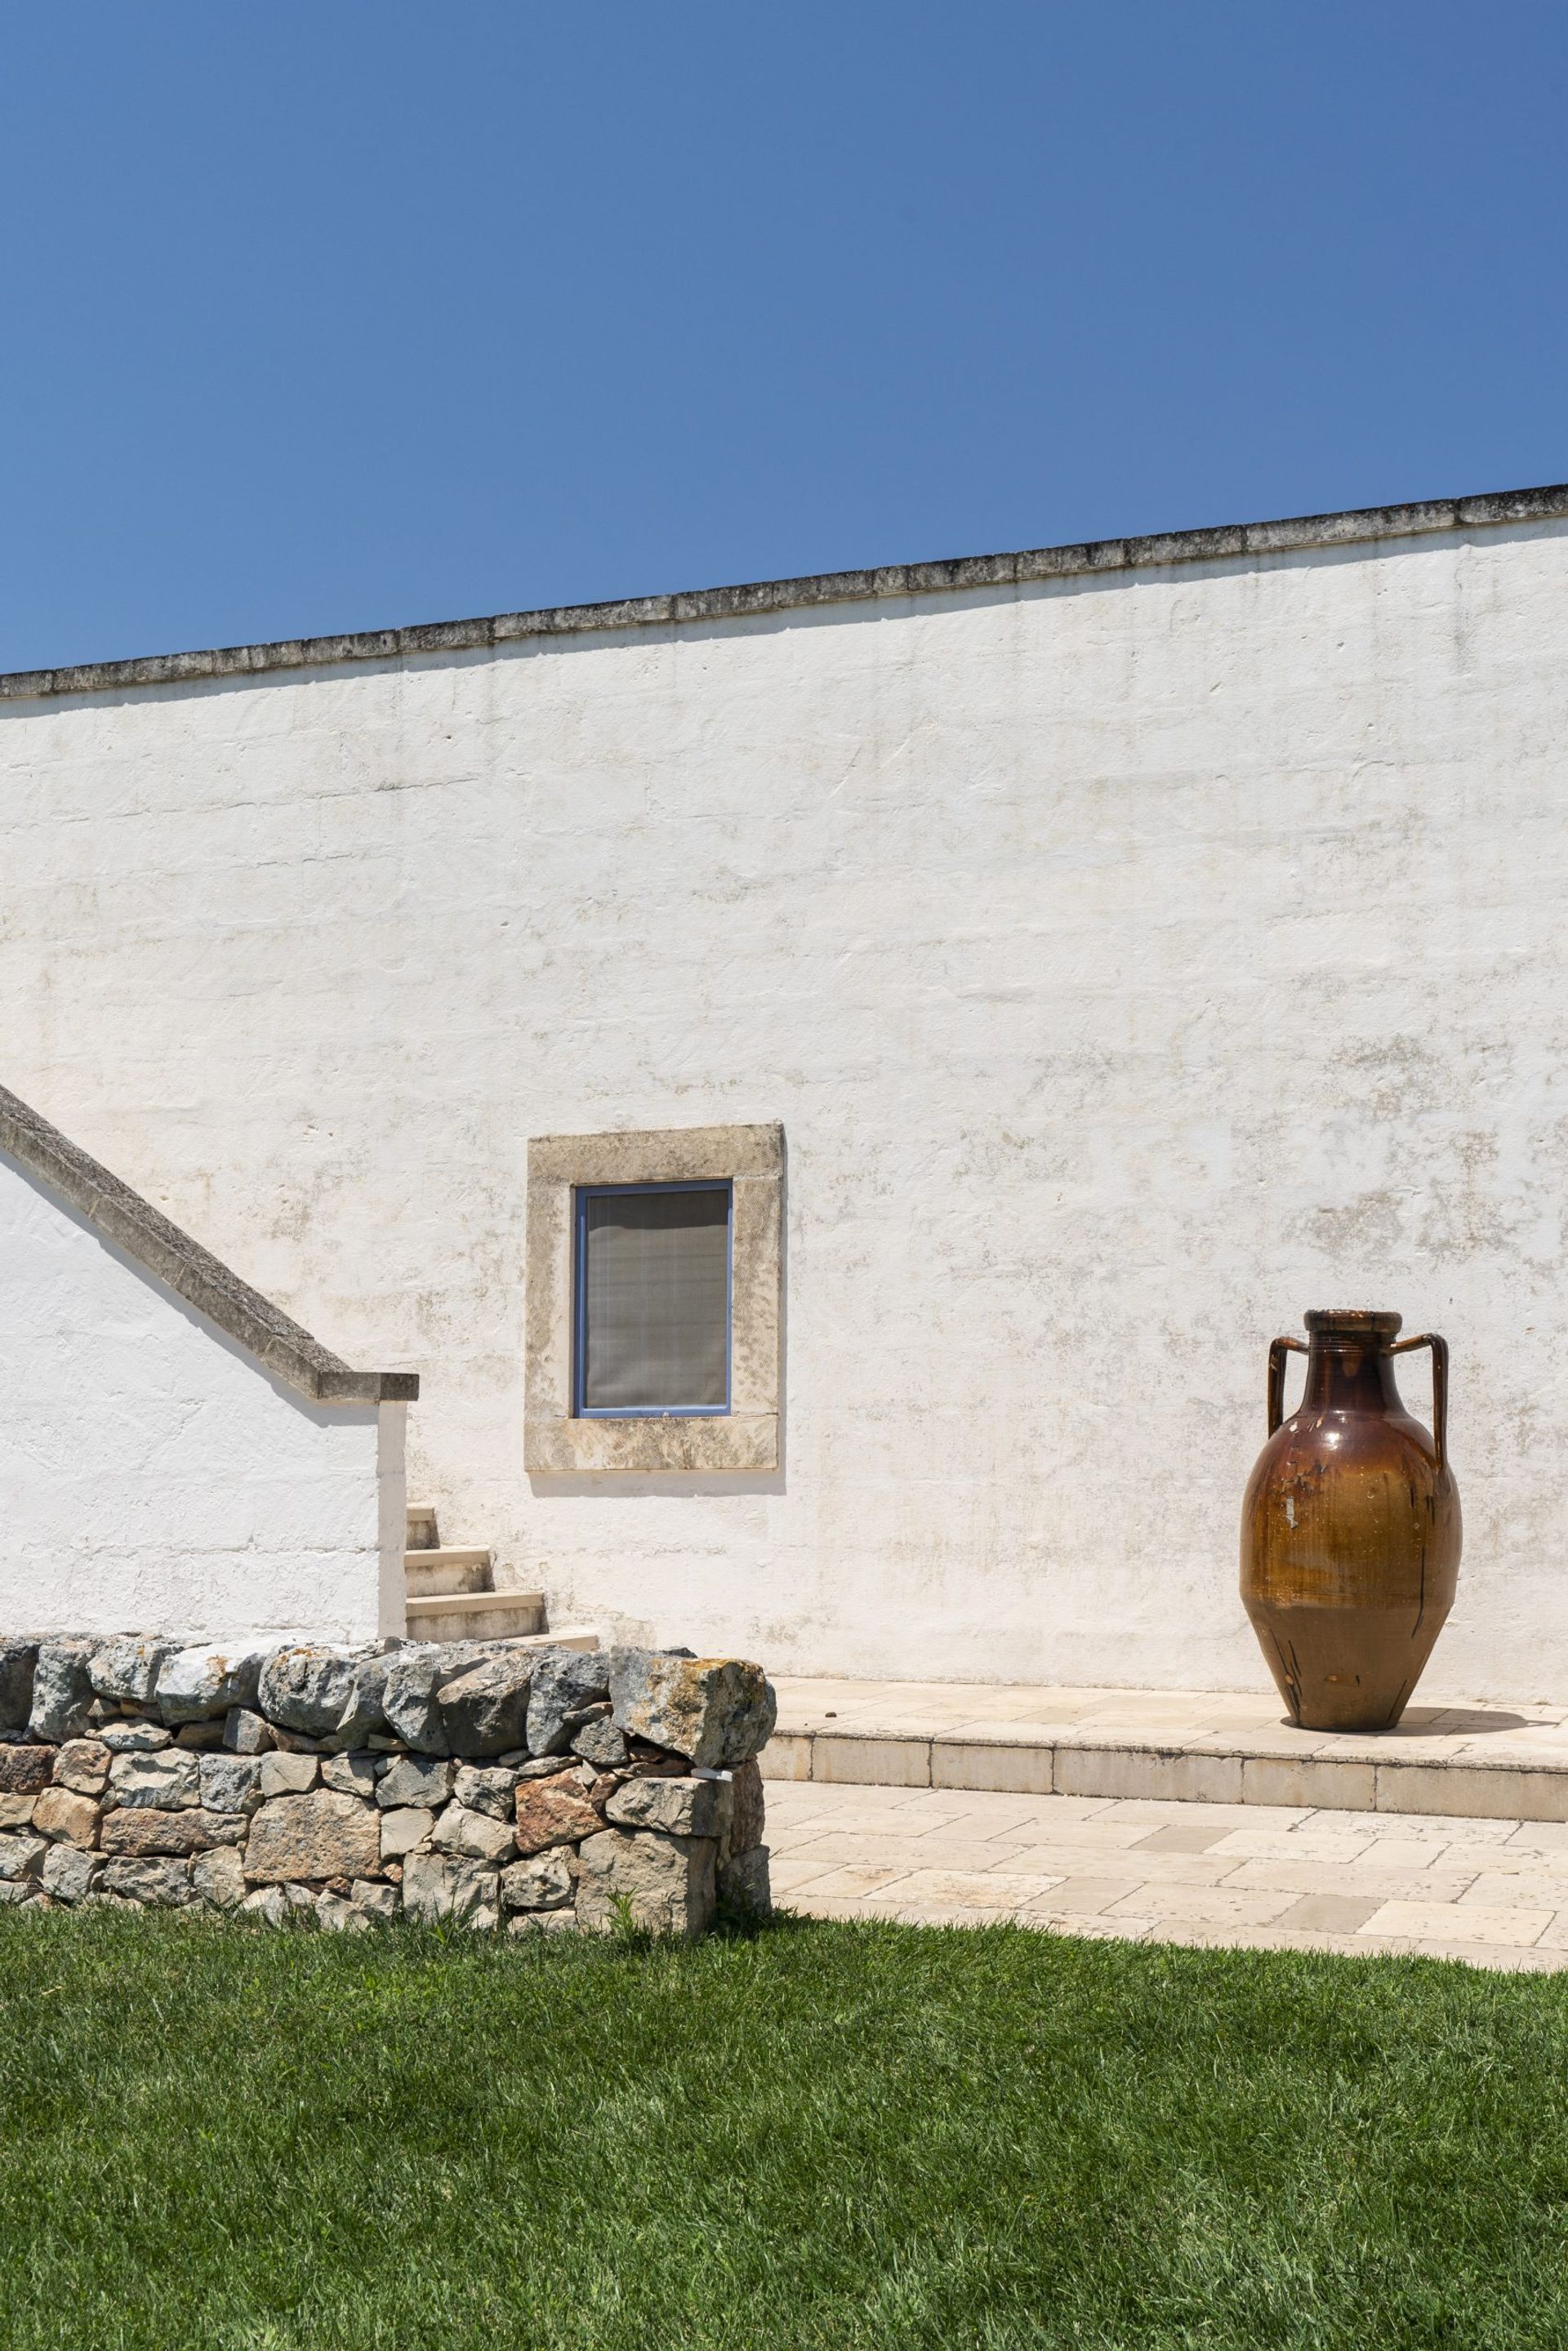
M 0 1333 L 0 1632 L 402 1629 L 407 1406 L 296 1396 L 5 1152 Z

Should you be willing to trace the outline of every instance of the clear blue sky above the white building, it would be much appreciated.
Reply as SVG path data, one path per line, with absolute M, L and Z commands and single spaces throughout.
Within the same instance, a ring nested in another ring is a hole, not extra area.
M 1552 0 L 0 0 L 0 668 L 1568 477 Z

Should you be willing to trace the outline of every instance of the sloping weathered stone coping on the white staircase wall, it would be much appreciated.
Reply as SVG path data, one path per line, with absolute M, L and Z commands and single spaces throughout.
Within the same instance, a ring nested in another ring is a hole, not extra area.
M 313 1404 L 416 1401 L 416 1371 L 355 1371 L 5 1086 L 0 1150 Z

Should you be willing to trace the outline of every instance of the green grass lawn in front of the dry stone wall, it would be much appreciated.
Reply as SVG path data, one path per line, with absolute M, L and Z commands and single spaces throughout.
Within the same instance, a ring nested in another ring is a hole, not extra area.
M 5 2351 L 1568 2342 L 1568 1980 L 0 1914 Z

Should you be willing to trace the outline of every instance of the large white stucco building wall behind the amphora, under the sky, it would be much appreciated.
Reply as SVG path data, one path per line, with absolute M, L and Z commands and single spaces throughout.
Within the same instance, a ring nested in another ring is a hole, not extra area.
M 421 1371 L 449 1540 L 776 1669 L 1262 1686 L 1265 1345 L 1396 1307 L 1429 1688 L 1563 1697 L 1566 642 L 1530 524 L 16 703 L 5 1081 Z M 759 1119 L 783 1472 L 529 1481 L 527 1136 Z

